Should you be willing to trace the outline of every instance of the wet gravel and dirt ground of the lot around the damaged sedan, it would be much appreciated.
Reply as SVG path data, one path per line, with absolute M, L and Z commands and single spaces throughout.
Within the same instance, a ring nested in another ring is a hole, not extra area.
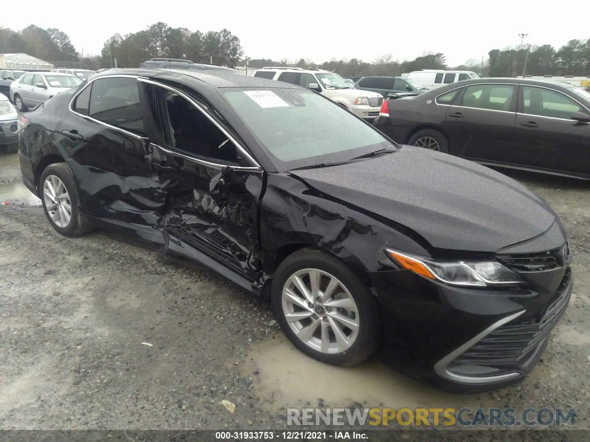
M 296 351 L 271 310 L 181 258 L 109 232 L 58 235 L 0 156 L 0 429 L 284 428 L 286 407 L 576 408 L 590 428 L 590 183 L 505 171 L 568 229 L 575 294 L 525 382 L 450 395 L 372 361 Z M 149 344 L 149 345 L 148 345 Z M 222 400 L 235 404 L 234 413 Z

